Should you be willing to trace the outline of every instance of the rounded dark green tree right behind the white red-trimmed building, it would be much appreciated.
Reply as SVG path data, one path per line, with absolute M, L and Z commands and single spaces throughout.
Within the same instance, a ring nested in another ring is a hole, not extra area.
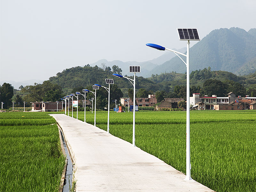
M 227 94 L 227 85 L 216 79 L 204 81 L 203 89 L 206 95 L 225 96 Z

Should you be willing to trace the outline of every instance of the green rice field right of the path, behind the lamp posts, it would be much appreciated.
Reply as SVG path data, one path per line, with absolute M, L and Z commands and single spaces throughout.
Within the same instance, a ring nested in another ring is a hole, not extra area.
M 96 126 L 107 130 L 107 117 L 96 111 Z M 190 119 L 191 177 L 217 192 L 256 191 L 256 110 L 191 111 Z M 135 122 L 135 145 L 186 173 L 186 111 L 140 111 Z M 132 112 L 110 112 L 109 127 L 132 143 Z

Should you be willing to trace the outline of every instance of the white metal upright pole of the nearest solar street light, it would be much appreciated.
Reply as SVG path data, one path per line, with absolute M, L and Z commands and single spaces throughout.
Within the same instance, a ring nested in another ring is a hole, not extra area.
M 189 107 L 189 40 L 187 42 L 187 141 L 186 141 L 186 178 L 185 180 L 192 180 L 190 173 L 190 107 Z

